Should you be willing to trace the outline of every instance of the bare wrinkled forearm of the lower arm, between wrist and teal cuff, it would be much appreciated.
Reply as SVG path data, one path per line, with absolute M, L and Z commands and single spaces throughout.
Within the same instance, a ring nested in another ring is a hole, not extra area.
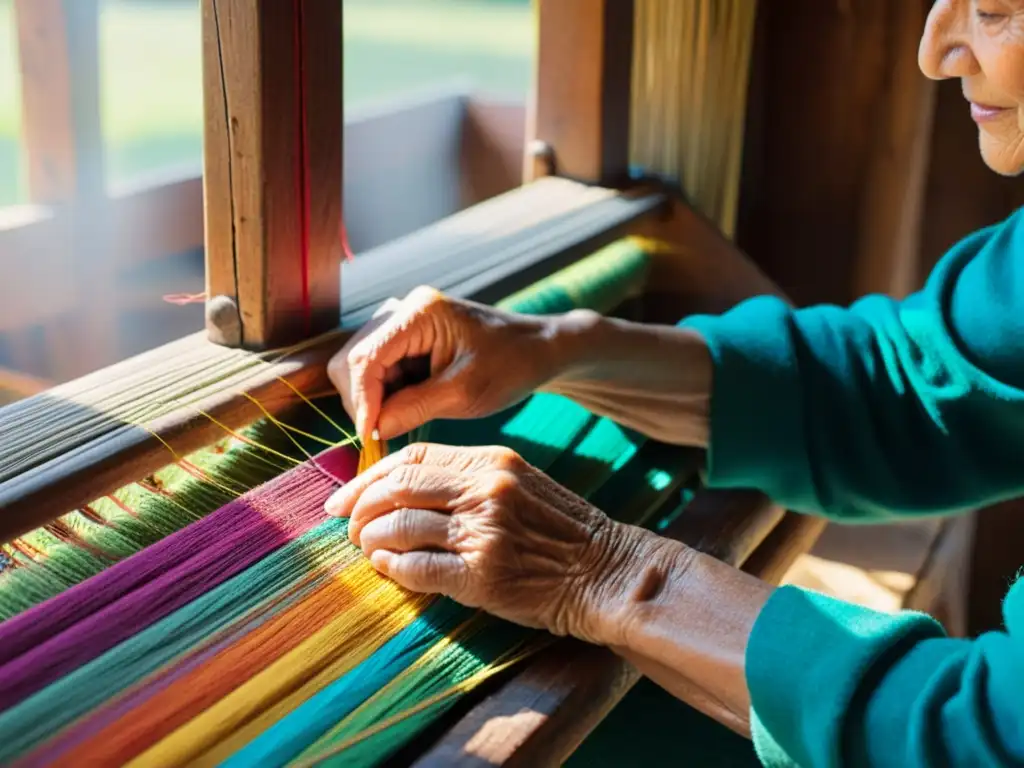
M 587 601 L 591 633 L 671 693 L 750 732 L 743 659 L 772 587 L 678 542 L 621 526 Z

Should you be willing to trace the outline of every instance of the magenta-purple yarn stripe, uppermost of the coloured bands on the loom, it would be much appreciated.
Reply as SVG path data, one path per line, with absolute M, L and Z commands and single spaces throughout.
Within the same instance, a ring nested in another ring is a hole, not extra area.
M 331 449 L 0 624 L 0 711 L 113 648 L 324 520 L 358 454 Z

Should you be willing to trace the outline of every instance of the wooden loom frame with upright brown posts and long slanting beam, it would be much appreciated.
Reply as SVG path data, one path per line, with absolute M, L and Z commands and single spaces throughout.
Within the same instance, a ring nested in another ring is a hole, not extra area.
M 324 364 L 342 334 L 390 296 L 431 284 L 453 295 L 496 300 L 629 232 L 673 246 L 655 263 L 650 293 L 671 286 L 677 315 L 776 292 L 702 215 L 659 184 L 631 181 L 634 3 L 545 0 L 538 7 L 536 140 L 525 173 L 531 183 L 342 269 L 340 6 L 205 0 L 207 288 L 209 296 L 223 297 L 210 302 L 208 334 L 8 413 L 16 417 L 48 399 L 78 402 L 86 411 L 90 393 L 143 371 L 173 379 L 187 362 L 195 374 L 172 381 L 162 399 L 173 401 L 177 387 L 182 397 L 188 393 L 190 408 L 153 404 L 146 411 L 148 429 L 186 453 L 220 435 L 198 411 L 230 427 L 260 416 L 242 391 L 274 412 L 295 401 L 282 379 L 307 394 L 327 391 Z M 332 331 L 339 316 L 341 333 L 314 338 Z M 252 364 L 234 348 L 269 349 L 303 339 L 311 341 L 272 365 Z M 233 386 L 204 379 L 206 368 L 227 370 Z M 137 419 L 112 416 L 90 419 L 76 440 L 54 439 L 58 449 L 2 478 L 3 541 L 166 462 L 165 445 L 133 426 Z M 778 579 L 819 530 L 817 521 L 786 514 L 757 494 L 700 490 L 665 534 Z M 559 643 L 489 691 L 425 749 L 420 762 L 557 763 L 638 677 L 610 651 Z

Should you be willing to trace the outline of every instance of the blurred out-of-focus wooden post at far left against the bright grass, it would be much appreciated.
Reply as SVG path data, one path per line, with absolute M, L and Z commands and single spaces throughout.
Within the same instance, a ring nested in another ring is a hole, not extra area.
M 29 194 L 53 209 L 78 286 L 75 311 L 44 325 L 60 381 L 117 358 L 115 269 L 106 248 L 99 117 L 98 0 L 15 0 Z M 45 297 L 39 297 L 41 301 Z

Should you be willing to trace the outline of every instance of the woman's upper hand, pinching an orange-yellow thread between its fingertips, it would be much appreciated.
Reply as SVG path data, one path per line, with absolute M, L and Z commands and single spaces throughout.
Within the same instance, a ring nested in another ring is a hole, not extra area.
M 519 401 L 553 375 L 554 322 L 511 314 L 418 288 L 383 311 L 328 367 L 360 436 L 382 439 L 432 419 L 486 416 Z M 410 361 L 426 381 L 402 387 Z M 387 396 L 387 389 L 399 388 Z

